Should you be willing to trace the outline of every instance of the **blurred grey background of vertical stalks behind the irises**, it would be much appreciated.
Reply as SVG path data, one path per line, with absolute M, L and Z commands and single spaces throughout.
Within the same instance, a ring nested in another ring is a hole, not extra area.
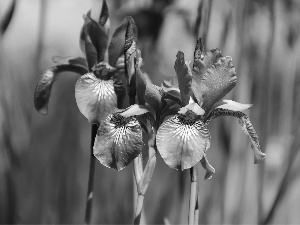
M 298 0 L 110 0 L 111 35 L 126 15 L 139 31 L 143 69 L 159 85 L 175 75 L 181 50 L 193 59 L 198 36 L 207 50 L 233 58 L 238 75 L 226 96 L 253 103 L 249 115 L 267 158 L 253 164 L 250 141 L 235 118 L 210 124 L 204 180 L 199 164 L 200 224 L 300 224 L 300 67 Z M 82 15 L 101 0 L 0 1 L 0 223 L 83 223 L 89 170 L 90 125 L 80 114 L 74 85 L 62 74 L 48 115 L 33 108 L 35 85 L 51 57 L 83 56 Z M 7 16 L 8 15 L 8 16 Z M 3 26 L 4 25 L 4 26 Z M 6 28 L 6 29 L 3 29 Z M 157 156 L 145 197 L 147 224 L 186 224 L 189 171 Z M 120 172 L 96 164 L 92 222 L 130 224 L 134 213 L 132 165 Z

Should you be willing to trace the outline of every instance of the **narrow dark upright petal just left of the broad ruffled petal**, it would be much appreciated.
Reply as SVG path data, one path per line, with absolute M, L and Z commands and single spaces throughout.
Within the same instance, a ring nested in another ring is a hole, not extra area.
M 191 95 L 192 75 L 190 74 L 188 65 L 184 61 L 183 52 L 179 51 L 177 53 L 174 68 L 178 78 L 181 102 L 183 106 L 186 106 L 189 104 Z

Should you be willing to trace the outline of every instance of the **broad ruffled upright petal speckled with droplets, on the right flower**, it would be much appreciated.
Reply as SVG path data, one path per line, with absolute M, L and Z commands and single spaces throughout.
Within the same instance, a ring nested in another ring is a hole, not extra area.
M 198 104 L 209 111 L 212 105 L 235 86 L 237 77 L 232 59 L 219 49 L 204 52 L 198 40 L 194 56 L 192 91 Z

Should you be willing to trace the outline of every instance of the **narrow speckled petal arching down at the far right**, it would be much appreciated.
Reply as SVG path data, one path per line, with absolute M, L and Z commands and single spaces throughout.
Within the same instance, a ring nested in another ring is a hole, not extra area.
M 251 148 L 254 153 L 254 163 L 257 164 L 260 161 L 262 161 L 266 154 L 261 152 L 258 136 L 256 134 L 256 131 L 248 118 L 248 116 L 242 112 L 239 111 L 232 111 L 222 108 L 216 108 L 214 109 L 206 118 L 206 123 L 209 122 L 212 118 L 220 117 L 220 116 L 234 116 L 239 119 L 239 124 L 242 127 L 242 130 L 246 135 L 248 135 L 250 141 L 251 141 Z

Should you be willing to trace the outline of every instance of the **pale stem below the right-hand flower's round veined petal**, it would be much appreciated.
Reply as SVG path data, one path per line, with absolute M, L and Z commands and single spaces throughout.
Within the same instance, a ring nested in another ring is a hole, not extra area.
M 190 169 L 191 173 L 191 193 L 190 193 L 190 209 L 189 209 L 189 225 L 193 225 L 195 221 L 195 209 L 197 198 L 197 167 L 193 166 Z

